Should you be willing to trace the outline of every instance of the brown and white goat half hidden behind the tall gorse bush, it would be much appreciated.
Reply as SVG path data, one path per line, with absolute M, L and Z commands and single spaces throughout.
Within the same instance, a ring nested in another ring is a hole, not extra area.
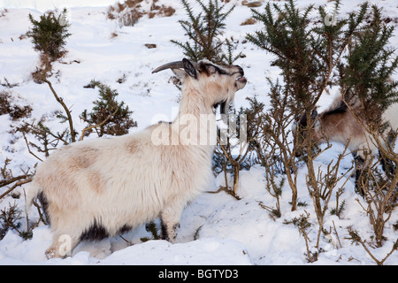
M 382 119 L 384 122 L 388 122 L 389 129 L 385 131 L 387 134 L 396 134 L 398 129 L 398 103 L 392 104 L 387 111 L 383 113 Z M 371 134 L 367 133 L 364 126 L 361 124 L 365 123 L 364 118 L 356 117 L 352 111 L 348 109 L 348 105 L 341 99 L 336 97 L 329 109 L 318 114 L 318 111 L 314 110 L 310 115 L 311 119 L 311 134 L 312 141 L 315 145 L 320 145 L 324 142 L 340 142 L 348 146 L 348 149 L 353 153 L 356 160 L 356 179 L 358 178 L 360 171 L 365 161 L 365 153 L 377 154 L 377 145 L 371 137 Z M 360 121 L 358 121 L 360 119 Z M 298 149 L 297 144 L 302 143 L 297 139 L 303 138 L 303 131 L 307 128 L 307 117 L 306 114 L 301 115 L 295 121 L 292 130 L 295 136 L 295 153 L 299 157 L 302 151 L 305 151 L 305 146 L 302 149 Z M 393 147 L 393 138 L 384 134 L 380 136 L 381 142 L 386 142 L 385 146 Z M 385 161 L 382 159 L 383 169 L 386 171 Z

